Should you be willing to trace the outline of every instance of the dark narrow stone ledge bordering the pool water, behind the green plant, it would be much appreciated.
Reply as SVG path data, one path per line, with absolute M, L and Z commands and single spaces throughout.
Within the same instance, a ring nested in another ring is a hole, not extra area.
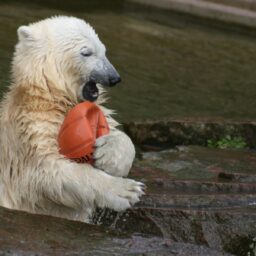
M 176 145 L 207 145 L 208 139 L 219 140 L 230 135 L 242 137 L 250 148 L 256 148 L 256 122 L 224 120 L 158 120 L 124 124 L 125 132 L 142 149 L 168 148 Z

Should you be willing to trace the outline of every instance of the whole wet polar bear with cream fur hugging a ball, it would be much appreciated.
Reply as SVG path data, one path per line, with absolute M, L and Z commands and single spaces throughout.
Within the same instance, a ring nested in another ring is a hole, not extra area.
M 96 207 L 123 211 L 143 184 L 127 176 L 135 156 L 103 106 L 102 86 L 120 81 L 105 46 L 85 21 L 57 16 L 18 28 L 12 84 L 0 107 L 0 205 L 90 222 Z M 57 135 L 77 103 L 95 101 L 110 134 L 97 139 L 95 165 L 59 154 Z

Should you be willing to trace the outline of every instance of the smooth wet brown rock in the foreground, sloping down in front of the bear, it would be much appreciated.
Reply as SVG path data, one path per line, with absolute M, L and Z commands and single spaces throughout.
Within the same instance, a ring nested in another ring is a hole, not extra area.
M 161 236 L 127 234 L 49 216 L 0 209 L 0 255 L 229 255 Z

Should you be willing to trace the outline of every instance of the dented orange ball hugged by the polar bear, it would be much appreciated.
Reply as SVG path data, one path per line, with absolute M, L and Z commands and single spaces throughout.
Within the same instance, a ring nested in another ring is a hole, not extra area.
M 61 125 L 59 152 L 78 163 L 93 163 L 96 139 L 109 134 L 105 116 L 97 105 L 86 101 L 72 108 Z

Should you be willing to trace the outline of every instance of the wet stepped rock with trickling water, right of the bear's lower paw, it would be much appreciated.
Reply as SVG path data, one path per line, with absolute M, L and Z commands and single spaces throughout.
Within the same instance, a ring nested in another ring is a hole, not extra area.
M 256 153 L 198 146 L 146 152 L 131 177 L 147 185 L 147 194 L 131 211 L 101 213 L 104 225 L 254 256 Z

